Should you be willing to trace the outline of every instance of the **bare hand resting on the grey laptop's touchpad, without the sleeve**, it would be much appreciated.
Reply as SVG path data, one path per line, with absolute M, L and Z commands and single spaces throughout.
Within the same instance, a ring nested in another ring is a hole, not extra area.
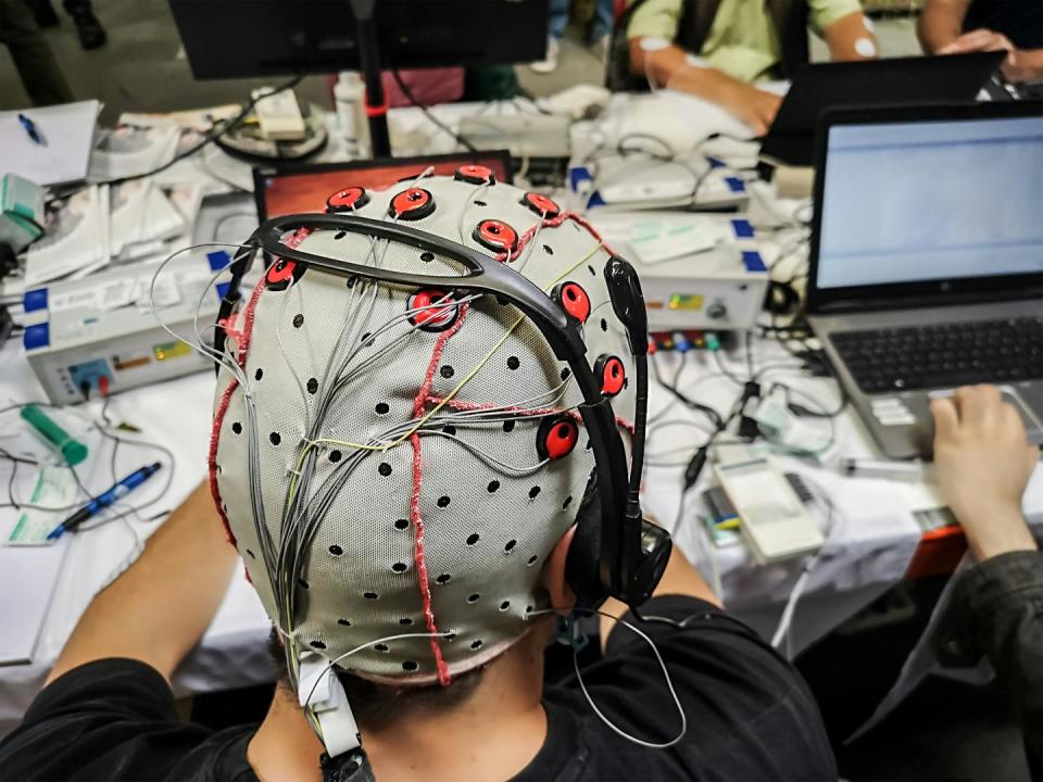
M 1034 550 L 1021 495 L 1039 449 L 1029 445 L 1021 416 L 995 386 L 958 389 L 931 402 L 934 465 L 942 496 L 967 535 L 975 558 Z

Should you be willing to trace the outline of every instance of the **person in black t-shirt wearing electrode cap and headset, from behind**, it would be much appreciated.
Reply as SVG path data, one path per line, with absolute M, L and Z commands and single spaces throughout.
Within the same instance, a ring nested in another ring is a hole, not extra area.
M 659 580 L 668 538 L 636 526 L 646 333 L 629 265 L 581 218 L 480 167 L 349 187 L 327 206 L 255 232 L 279 260 L 219 323 L 208 491 L 221 520 L 203 526 L 198 492 L 111 588 L 126 611 L 176 582 L 161 544 L 190 548 L 206 576 L 178 592 L 198 615 L 171 609 L 193 614 L 184 656 L 234 560 L 215 545 L 227 534 L 288 681 L 260 728 L 164 724 L 148 743 L 137 722 L 134 740 L 73 743 L 60 755 L 80 747 L 78 778 L 835 778 L 793 668 L 679 553 Z M 629 609 L 617 628 L 628 607 L 650 619 Z M 594 610 L 603 659 L 544 686 L 555 631 L 582 643 L 560 618 Z M 135 627 L 149 635 L 147 616 Z M 180 659 L 152 641 L 60 660 L 52 678 L 68 672 L 45 695 L 89 688 L 96 666 L 143 709 Z

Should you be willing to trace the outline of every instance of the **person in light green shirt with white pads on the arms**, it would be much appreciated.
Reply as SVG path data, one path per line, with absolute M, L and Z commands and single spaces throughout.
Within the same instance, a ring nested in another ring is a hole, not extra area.
M 717 103 L 762 136 L 781 98 L 754 85 L 806 62 L 807 26 L 833 60 L 877 55 L 858 0 L 631 0 L 630 71 Z

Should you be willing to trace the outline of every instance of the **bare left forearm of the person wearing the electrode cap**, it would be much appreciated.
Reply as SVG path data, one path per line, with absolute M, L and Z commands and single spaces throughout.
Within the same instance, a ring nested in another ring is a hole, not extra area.
M 95 597 L 48 681 L 106 657 L 142 660 L 168 679 L 210 626 L 237 562 L 210 491 L 200 485 Z

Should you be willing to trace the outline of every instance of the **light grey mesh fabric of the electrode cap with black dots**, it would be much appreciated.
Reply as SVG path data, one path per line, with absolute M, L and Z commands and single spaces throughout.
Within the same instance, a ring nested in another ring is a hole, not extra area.
M 548 293 L 560 281 L 578 283 L 591 304 L 589 363 L 618 356 L 631 376 L 603 275 L 610 252 L 582 220 L 566 214 L 541 224 L 522 190 L 448 177 L 370 192 L 357 214 L 392 219 L 391 199 L 413 186 L 431 193 L 435 211 L 407 225 L 495 255 L 474 232 L 481 220 L 502 220 L 523 239 L 505 263 Z M 357 234 L 293 241 L 357 264 L 462 273 L 454 261 Z M 452 325 L 433 331 L 415 325 L 424 301 L 416 293 L 316 267 L 282 290 L 262 280 L 229 324 L 226 352 L 247 387 L 222 369 L 211 468 L 247 572 L 292 645 L 334 661 L 390 635 L 451 633 L 388 641 L 338 663 L 365 678 L 422 684 L 488 661 L 531 627 L 531 611 L 548 607 L 540 572 L 575 520 L 594 458 L 575 415 L 575 380 L 518 310 L 492 295 L 455 306 L 436 299 L 424 312 Z M 627 383 L 613 400 L 620 426 L 633 415 L 632 392 Z M 546 461 L 537 434 L 555 411 L 571 411 L 578 442 Z

